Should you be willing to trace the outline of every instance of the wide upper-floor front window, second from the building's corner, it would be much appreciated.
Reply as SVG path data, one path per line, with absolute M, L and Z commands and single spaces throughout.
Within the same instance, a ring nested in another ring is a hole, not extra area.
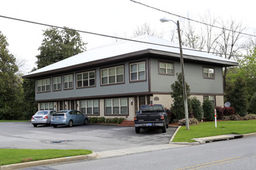
M 102 85 L 124 82 L 123 66 L 115 66 L 101 70 Z

